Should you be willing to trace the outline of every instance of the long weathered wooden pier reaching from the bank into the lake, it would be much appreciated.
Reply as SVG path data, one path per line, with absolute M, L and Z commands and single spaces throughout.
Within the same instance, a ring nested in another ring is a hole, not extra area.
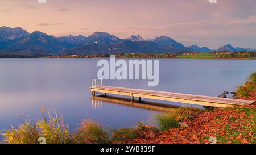
M 106 94 L 117 94 L 130 96 L 131 100 L 134 97 L 148 99 L 158 99 L 167 100 L 171 102 L 180 102 L 188 104 L 197 104 L 202 106 L 210 107 L 231 107 L 231 106 L 243 106 L 253 104 L 253 100 L 241 100 L 241 99 L 231 99 L 231 98 L 218 98 L 209 97 L 203 95 L 192 95 L 192 94 L 181 94 L 181 93 L 171 93 L 165 91 L 155 91 L 155 90 L 143 90 L 143 89 L 131 89 L 125 87 L 112 87 L 112 86 L 92 86 L 89 87 L 93 95 L 96 92 Z

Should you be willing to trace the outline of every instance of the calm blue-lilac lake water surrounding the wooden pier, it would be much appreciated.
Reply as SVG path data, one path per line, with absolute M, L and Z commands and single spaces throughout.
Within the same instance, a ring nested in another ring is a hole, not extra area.
M 41 108 L 55 108 L 71 131 L 86 118 L 112 128 L 151 122 L 154 108 L 118 104 L 118 99 L 91 99 L 91 79 L 97 78 L 97 59 L 0 59 L 0 130 L 35 121 Z M 159 85 L 146 80 L 104 80 L 103 85 L 218 96 L 234 91 L 256 71 L 256 60 L 159 60 Z M 157 103 L 186 105 L 158 100 Z M 201 106 L 193 106 L 199 107 Z

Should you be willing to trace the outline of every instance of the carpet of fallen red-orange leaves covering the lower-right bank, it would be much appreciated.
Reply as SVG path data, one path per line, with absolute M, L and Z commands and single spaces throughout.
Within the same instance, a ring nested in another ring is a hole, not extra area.
M 256 106 L 249 106 L 255 111 Z M 250 109 L 249 108 L 249 109 Z M 185 119 L 188 128 L 172 128 L 164 132 L 144 131 L 137 139 L 123 143 L 210 143 L 209 137 L 216 137 L 217 143 L 255 142 L 255 114 L 241 112 L 241 108 L 217 108 L 204 111 L 193 119 Z

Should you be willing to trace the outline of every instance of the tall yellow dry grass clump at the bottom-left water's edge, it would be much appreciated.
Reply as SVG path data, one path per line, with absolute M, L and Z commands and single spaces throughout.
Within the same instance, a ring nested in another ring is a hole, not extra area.
M 49 119 L 44 115 L 42 108 L 43 119 L 38 123 L 31 125 L 30 122 L 25 122 L 19 125 L 18 129 L 11 127 L 2 135 L 4 143 L 9 144 L 37 144 L 39 137 L 45 137 L 46 143 L 65 144 L 70 143 L 68 125 L 63 123 L 63 119 L 59 118 L 55 110 L 48 112 Z

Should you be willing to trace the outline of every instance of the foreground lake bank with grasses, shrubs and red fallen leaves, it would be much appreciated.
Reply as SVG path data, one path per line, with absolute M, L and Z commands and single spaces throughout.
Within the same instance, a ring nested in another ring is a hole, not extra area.
M 240 99 L 256 101 L 256 72 L 237 88 Z M 180 107 L 155 115 L 155 125 L 138 122 L 135 128 L 112 129 L 92 120 L 84 120 L 75 132 L 56 111 L 42 109 L 42 120 L 25 122 L 3 133 L 2 143 L 256 143 L 256 106 L 200 110 Z

